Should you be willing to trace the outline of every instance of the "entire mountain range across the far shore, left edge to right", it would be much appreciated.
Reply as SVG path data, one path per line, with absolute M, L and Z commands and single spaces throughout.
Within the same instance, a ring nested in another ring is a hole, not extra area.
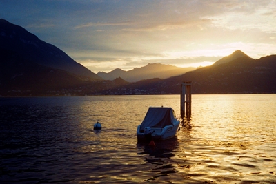
M 236 50 L 213 65 L 177 68 L 150 63 L 95 74 L 59 48 L 0 19 L 0 96 L 276 93 L 276 55 L 253 59 Z

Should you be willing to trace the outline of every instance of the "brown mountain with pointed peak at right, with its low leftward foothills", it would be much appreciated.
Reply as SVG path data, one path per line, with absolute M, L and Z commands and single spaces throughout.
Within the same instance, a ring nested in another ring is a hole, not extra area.
M 217 62 L 168 79 L 129 83 L 119 77 L 92 94 L 180 94 L 184 81 L 192 83 L 192 94 L 276 93 L 276 55 L 253 59 L 236 50 Z

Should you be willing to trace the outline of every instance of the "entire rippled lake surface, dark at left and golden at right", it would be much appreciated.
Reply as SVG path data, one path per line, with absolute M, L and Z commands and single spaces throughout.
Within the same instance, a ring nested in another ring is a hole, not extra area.
M 0 183 L 276 183 L 276 94 L 192 99 L 150 147 L 137 125 L 149 106 L 179 114 L 179 95 L 0 98 Z

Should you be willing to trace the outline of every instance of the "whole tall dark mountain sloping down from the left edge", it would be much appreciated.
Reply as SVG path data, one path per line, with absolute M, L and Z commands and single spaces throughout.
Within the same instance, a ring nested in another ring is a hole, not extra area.
M 101 80 L 59 48 L 0 19 L 0 95 L 43 95 Z

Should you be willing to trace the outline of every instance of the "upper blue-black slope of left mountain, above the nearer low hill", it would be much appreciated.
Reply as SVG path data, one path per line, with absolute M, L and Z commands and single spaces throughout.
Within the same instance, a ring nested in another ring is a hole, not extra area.
M 17 54 L 18 58 L 29 63 L 64 70 L 71 74 L 84 76 L 87 80 L 101 79 L 59 48 L 41 41 L 19 25 L 14 25 L 4 19 L 0 19 L 0 49 Z

